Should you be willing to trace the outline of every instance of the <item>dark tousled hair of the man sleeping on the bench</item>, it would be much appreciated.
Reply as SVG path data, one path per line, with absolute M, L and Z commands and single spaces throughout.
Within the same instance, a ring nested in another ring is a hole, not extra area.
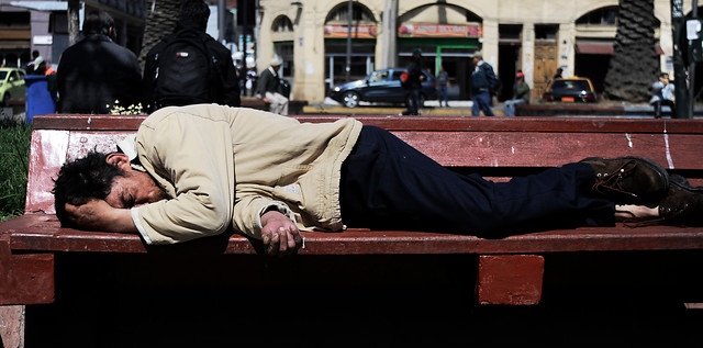
M 107 157 L 107 154 L 91 151 L 62 166 L 52 193 L 56 216 L 63 226 L 75 227 L 66 215 L 66 203 L 82 205 L 91 199 L 104 200 L 114 178 L 124 176 L 124 170 L 108 164 Z

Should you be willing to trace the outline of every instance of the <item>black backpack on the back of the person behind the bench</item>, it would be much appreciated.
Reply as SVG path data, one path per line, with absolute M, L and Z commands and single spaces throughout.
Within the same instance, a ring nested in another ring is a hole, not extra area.
M 209 35 L 186 29 L 165 41 L 154 56 L 153 97 L 157 108 L 216 101 L 221 82 L 216 58 L 210 54 Z M 219 85 L 217 85 L 219 83 Z

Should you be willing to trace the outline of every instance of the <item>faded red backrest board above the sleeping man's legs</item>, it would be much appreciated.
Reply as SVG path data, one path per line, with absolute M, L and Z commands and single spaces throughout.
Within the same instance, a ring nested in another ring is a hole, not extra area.
M 554 167 L 593 156 L 641 156 L 667 169 L 703 169 L 691 151 L 703 150 L 701 137 L 687 134 L 393 133 L 447 167 Z

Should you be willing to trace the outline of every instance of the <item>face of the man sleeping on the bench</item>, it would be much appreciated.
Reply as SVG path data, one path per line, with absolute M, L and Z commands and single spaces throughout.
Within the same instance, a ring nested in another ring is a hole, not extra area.
M 164 199 L 167 199 L 166 192 L 154 182 L 148 173 L 127 169 L 124 177 L 116 177 L 112 181 L 112 188 L 105 202 L 112 207 L 130 209 Z

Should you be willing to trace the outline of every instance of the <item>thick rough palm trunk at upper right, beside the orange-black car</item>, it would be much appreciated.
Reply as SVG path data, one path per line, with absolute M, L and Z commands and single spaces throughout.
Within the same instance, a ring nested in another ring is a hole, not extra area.
M 646 101 L 657 80 L 654 0 L 620 0 L 615 50 L 605 76 L 605 97 Z

